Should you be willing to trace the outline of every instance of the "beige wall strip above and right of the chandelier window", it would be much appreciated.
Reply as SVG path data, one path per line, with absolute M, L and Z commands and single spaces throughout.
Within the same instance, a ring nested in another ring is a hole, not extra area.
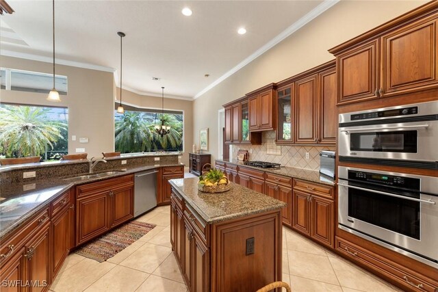
M 166 96 L 166 89 L 164 91 L 164 96 Z M 120 98 L 120 88 L 117 88 L 117 101 Z M 122 95 L 123 103 L 137 105 L 139 107 L 145 107 L 148 109 L 162 109 L 162 98 L 157 96 L 146 96 L 130 92 L 128 90 L 123 90 Z M 164 98 L 164 109 L 174 109 L 184 112 L 184 133 L 183 133 L 183 157 L 181 159 L 182 163 L 188 166 L 189 155 L 188 153 L 192 151 L 193 145 L 193 101 L 185 101 L 182 99 L 175 98 Z

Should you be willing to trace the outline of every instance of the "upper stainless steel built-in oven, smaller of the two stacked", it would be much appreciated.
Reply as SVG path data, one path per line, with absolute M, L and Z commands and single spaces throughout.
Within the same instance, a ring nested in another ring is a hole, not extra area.
M 339 161 L 437 169 L 438 101 L 339 114 L 338 137 Z

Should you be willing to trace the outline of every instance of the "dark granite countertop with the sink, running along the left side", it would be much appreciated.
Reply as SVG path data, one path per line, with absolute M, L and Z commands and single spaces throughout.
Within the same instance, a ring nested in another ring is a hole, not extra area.
M 46 178 L 40 181 L 0 184 L 0 241 L 21 226 L 29 217 L 47 207 L 49 202 L 75 185 L 102 181 L 163 166 L 177 166 L 183 163 L 156 163 L 153 165 L 131 165 L 118 168 L 120 172 L 77 180 L 62 177 Z M 105 170 L 110 171 L 110 170 Z M 79 175 L 79 174 L 77 174 Z

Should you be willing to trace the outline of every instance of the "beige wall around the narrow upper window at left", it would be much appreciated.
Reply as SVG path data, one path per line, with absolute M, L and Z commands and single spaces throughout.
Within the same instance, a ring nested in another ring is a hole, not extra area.
M 5 68 L 52 72 L 52 64 L 28 59 L 1 56 Z M 114 75 L 112 72 L 56 65 L 56 74 L 68 77 L 68 94 L 60 103 L 47 101 L 47 94 L 34 92 L 0 91 L 1 103 L 49 105 L 68 107 L 68 152 L 85 148 L 88 157 L 102 156 L 101 152 L 114 150 Z M 72 141 L 71 136 L 77 140 Z M 88 137 L 87 144 L 79 137 Z

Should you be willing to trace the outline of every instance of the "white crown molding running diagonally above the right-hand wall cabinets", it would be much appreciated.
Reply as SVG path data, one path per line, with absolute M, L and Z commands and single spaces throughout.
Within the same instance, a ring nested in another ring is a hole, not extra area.
M 263 45 L 263 47 L 261 47 L 260 49 L 255 51 L 252 55 L 246 57 L 246 59 L 244 59 L 242 62 L 237 64 L 237 66 L 235 66 L 234 68 L 232 68 L 231 70 L 226 72 L 224 75 L 222 75 L 221 77 L 216 79 L 213 83 L 208 85 L 206 88 L 204 88 L 203 90 L 198 92 L 194 96 L 193 99 L 196 99 L 196 98 L 202 96 L 203 94 L 205 94 L 205 92 L 211 90 L 216 85 L 218 85 L 219 83 L 221 83 L 222 81 L 224 81 L 225 79 L 227 79 L 228 77 L 233 75 L 235 72 L 244 68 L 244 66 L 248 65 L 250 62 L 253 62 L 255 59 L 257 59 L 257 57 L 259 57 L 260 55 L 262 55 L 263 53 L 265 53 L 269 49 L 272 49 L 272 47 L 274 47 L 276 44 L 278 44 L 279 42 L 281 42 L 282 40 L 284 40 L 285 38 L 287 38 L 291 34 L 294 34 L 295 31 L 297 31 L 301 27 L 305 26 L 307 23 L 312 21 L 314 18 L 318 17 L 320 14 L 322 14 L 323 12 L 325 12 L 326 10 L 331 8 L 333 5 L 337 4 L 339 1 L 340 0 L 324 0 L 324 2 L 322 2 L 320 5 L 318 5 L 313 10 L 311 10 L 311 12 L 307 13 L 305 16 L 302 16 L 302 18 L 300 18 L 298 21 L 296 21 L 296 23 L 287 27 L 287 29 L 285 29 L 278 36 L 276 36 L 275 38 L 270 40 L 268 43 Z

